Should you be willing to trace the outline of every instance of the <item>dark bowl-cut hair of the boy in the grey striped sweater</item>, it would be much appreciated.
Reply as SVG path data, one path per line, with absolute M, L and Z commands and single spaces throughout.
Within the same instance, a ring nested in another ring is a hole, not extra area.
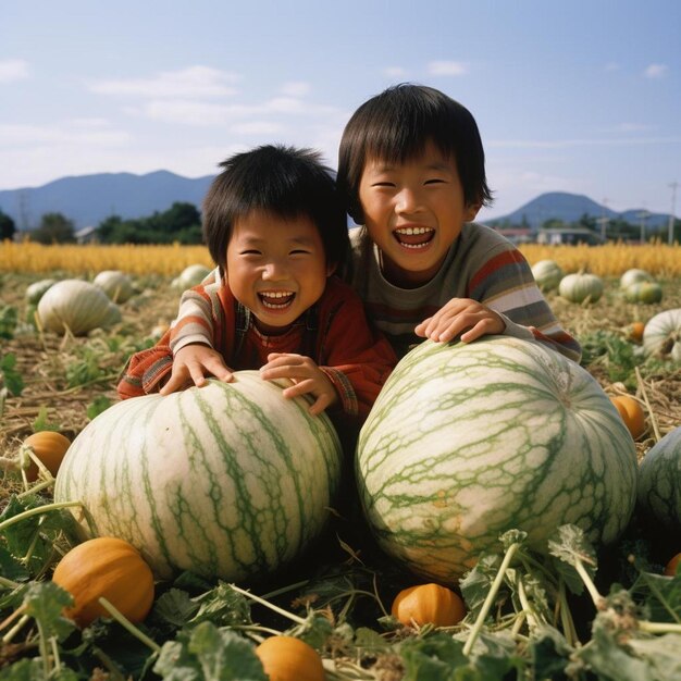
M 467 205 L 492 202 L 485 152 L 471 112 L 435 88 L 403 83 L 366 101 L 343 132 L 337 183 L 357 224 L 363 223 L 359 183 L 367 159 L 404 163 L 422 153 L 429 140 L 456 161 Z

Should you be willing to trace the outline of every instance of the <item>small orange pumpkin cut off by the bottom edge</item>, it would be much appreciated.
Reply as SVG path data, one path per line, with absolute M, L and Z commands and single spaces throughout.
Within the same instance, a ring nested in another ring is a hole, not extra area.
M 257 648 L 270 681 L 324 681 L 324 666 L 317 651 L 294 636 L 270 636 Z

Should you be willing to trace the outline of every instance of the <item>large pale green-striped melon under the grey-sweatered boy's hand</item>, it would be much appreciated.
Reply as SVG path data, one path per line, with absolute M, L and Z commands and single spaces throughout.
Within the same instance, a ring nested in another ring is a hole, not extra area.
M 364 423 L 356 475 L 380 545 L 456 584 L 511 528 L 542 549 L 564 523 L 609 543 L 636 494 L 629 431 L 579 364 L 532 340 L 426 340 Z

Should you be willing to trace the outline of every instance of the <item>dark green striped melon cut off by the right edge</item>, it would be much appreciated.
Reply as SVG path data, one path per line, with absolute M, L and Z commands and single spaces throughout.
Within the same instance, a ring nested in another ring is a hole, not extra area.
M 681 532 L 681 425 L 653 445 L 641 461 L 639 507 L 667 532 Z

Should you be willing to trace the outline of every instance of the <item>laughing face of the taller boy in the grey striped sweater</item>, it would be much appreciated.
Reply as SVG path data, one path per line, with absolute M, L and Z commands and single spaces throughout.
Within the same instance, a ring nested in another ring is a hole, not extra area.
M 383 274 L 405 288 L 435 276 L 463 223 L 480 210 L 465 202 L 455 160 L 430 141 L 420 157 L 401 164 L 368 159 L 359 200 Z

